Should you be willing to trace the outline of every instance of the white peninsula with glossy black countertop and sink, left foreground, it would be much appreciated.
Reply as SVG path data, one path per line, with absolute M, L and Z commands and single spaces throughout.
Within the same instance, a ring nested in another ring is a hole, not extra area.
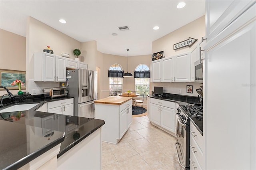
M 37 111 L 47 102 L 62 99 L 67 98 L 32 97 L 25 104 L 38 103 L 35 107 L 0 113 L 0 169 L 68 169 L 70 166 L 100 169 L 103 120 Z M 24 103 L 12 103 L 15 104 Z M 44 128 L 49 123 L 54 123 L 52 129 Z M 52 149 L 54 152 L 49 153 Z M 50 166 L 44 166 L 47 162 Z

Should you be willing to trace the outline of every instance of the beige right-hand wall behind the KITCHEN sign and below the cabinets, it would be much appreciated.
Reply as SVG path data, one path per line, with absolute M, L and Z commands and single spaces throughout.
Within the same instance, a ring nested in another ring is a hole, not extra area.
M 165 57 L 186 53 L 191 51 L 203 36 L 205 36 L 204 16 L 152 42 L 152 53 L 164 51 Z M 188 37 L 198 39 L 198 41 L 192 47 L 173 50 L 174 44 L 187 40 Z M 193 85 L 193 94 L 186 93 L 186 85 Z M 178 94 L 178 91 L 181 90 L 182 95 L 197 96 L 196 89 L 200 88 L 201 85 L 200 83 L 150 83 L 150 91 L 154 91 L 154 86 L 161 86 L 164 87 L 165 93 Z

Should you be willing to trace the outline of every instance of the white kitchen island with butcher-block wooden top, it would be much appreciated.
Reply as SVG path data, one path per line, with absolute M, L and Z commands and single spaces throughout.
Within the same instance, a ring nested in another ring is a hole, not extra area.
M 132 97 L 112 96 L 96 100 L 95 119 L 103 119 L 102 141 L 117 144 L 132 123 Z

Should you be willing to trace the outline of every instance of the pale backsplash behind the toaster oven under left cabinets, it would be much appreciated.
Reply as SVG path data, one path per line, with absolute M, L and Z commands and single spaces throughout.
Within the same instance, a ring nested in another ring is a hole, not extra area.
M 50 88 L 50 87 L 60 87 L 59 82 L 39 82 L 34 81 L 34 79 L 29 79 L 29 89 L 28 92 L 31 95 L 42 95 L 44 94 L 44 88 Z

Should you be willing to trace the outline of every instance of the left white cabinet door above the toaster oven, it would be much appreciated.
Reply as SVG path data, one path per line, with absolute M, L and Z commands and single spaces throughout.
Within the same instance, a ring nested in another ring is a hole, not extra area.
M 55 55 L 48 53 L 42 55 L 42 81 L 55 81 Z

